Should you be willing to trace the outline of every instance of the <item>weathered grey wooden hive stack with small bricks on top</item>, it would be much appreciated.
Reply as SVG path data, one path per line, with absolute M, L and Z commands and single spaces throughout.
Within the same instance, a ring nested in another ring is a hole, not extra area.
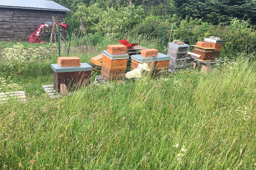
M 189 45 L 184 42 L 174 40 L 168 44 L 168 53 L 170 56 L 168 71 L 177 72 L 193 65 L 194 59 L 186 57 Z

